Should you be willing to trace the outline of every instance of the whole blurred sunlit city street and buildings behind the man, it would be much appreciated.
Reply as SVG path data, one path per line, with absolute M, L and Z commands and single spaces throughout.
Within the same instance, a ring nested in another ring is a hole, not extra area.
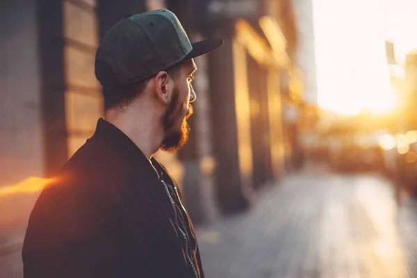
M 417 1 L 0 0 L 0 277 L 103 117 L 100 38 L 168 8 L 196 59 L 190 141 L 158 153 L 206 277 L 416 277 Z

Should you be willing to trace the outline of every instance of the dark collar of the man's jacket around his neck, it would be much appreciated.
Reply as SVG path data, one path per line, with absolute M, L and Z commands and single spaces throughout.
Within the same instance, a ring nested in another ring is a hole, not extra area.
M 158 173 L 155 172 L 154 167 L 149 163 L 145 154 L 143 154 L 138 146 L 123 131 L 102 118 L 97 122 L 96 131 L 92 136 L 92 140 L 103 140 L 108 147 L 115 149 L 129 163 L 140 167 L 140 170 L 144 170 L 147 174 L 153 174 L 156 179 L 159 179 L 161 174 L 163 174 L 158 167 L 156 167 Z M 151 161 L 153 165 L 159 165 L 154 157 L 151 158 Z

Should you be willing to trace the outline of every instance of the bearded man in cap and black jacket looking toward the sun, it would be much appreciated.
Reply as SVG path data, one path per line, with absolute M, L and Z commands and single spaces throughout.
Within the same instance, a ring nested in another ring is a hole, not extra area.
M 24 240 L 24 277 L 204 277 L 193 224 L 158 149 L 187 140 L 193 58 L 168 10 L 122 19 L 97 50 L 105 119 L 42 191 Z

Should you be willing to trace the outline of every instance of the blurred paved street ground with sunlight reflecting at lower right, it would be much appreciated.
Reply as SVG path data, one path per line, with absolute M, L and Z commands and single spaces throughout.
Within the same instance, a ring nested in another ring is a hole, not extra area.
M 197 229 L 206 277 L 417 277 L 417 204 L 373 176 L 299 175 Z

